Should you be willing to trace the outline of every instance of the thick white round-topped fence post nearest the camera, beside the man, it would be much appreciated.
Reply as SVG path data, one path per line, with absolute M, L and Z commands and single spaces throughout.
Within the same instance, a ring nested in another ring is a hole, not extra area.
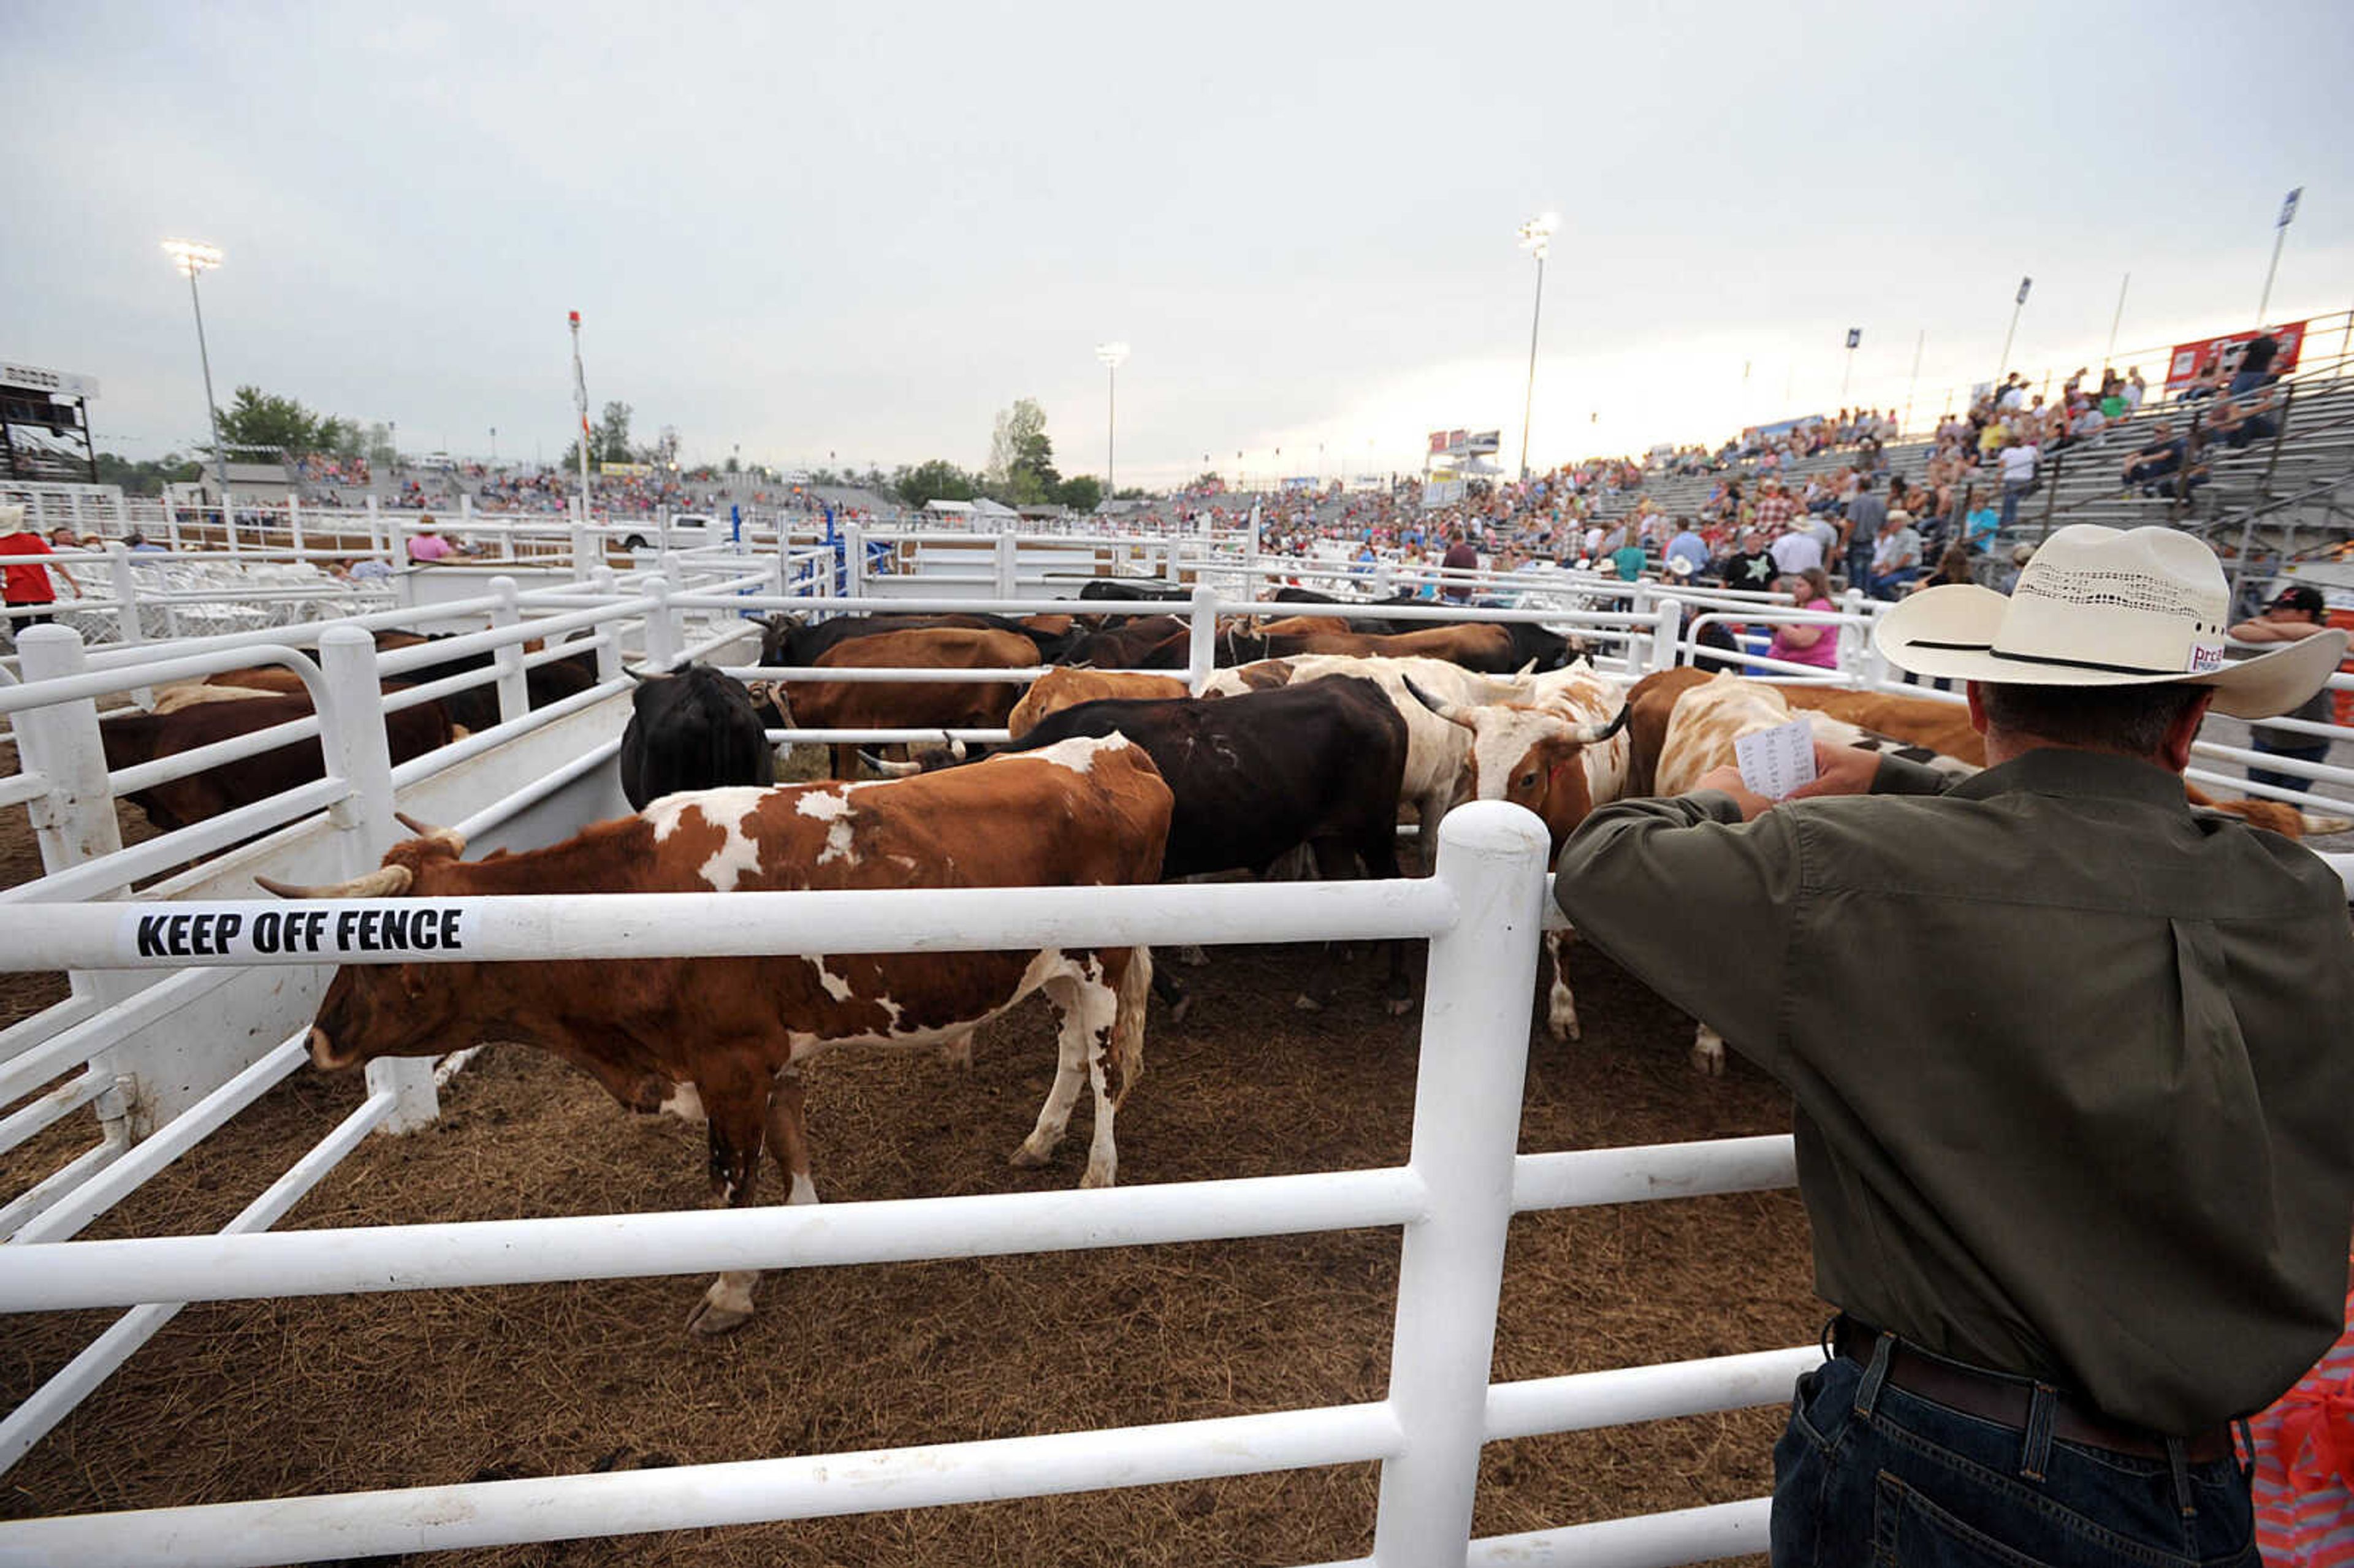
M 1471 1540 L 1544 850 L 1544 824 L 1502 800 L 1474 800 L 1438 824 L 1438 881 L 1457 913 L 1431 937 L 1422 1001 L 1410 1165 L 1429 1203 L 1405 1227 L 1398 1257 L 1389 1408 L 1405 1450 L 1382 1464 L 1372 1526 L 1379 1568 L 1459 1563 Z

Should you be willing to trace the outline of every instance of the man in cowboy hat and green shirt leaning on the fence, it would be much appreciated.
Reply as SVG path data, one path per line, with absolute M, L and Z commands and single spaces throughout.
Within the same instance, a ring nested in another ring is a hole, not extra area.
M 2345 1304 L 2354 935 L 2328 864 L 2180 775 L 2208 706 L 2295 709 L 2347 636 L 2234 664 L 2227 607 L 2187 534 L 2062 527 L 2010 598 L 1874 629 L 1968 685 L 1984 772 L 1817 746 L 1806 800 L 1723 768 L 1563 848 L 1577 930 L 1796 1102 L 1841 1316 L 1775 1448 L 1775 1563 L 2253 1559 L 2229 1422 Z

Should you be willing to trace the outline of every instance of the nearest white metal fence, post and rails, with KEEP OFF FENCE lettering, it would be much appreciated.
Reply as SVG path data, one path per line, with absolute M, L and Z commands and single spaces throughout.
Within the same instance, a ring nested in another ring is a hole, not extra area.
M 54 1241 L 0 1248 L 0 1311 L 327 1290 L 407 1290 L 716 1267 L 840 1267 L 1309 1229 L 1403 1229 L 1389 1396 L 1123 1431 L 621 1476 L 210 1504 L 0 1526 L 0 1563 L 287 1563 L 588 1533 L 796 1519 L 1043 1495 L 1297 1464 L 1382 1462 L 1377 1563 L 1462 1561 L 1481 1443 L 1547 1422 L 1641 1420 L 1780 1398 L 1775 1351 L 1716 1368 L 1490 1389 L 1504 1229 L 1516 1208 L 1730 1191 L 1789 1180 L 1787 1140 L 1711 1149 L 1516 1156 L 1525 998 L 1544 909 L 1542 824 L 1474 803 L 1441 826 L 1434 878 L 1278 888 L 1057 888 L 452 899 L 450 961 L 749 951 L 942 951 L 1125 942 L 1429 935 L 1412 1156 L 1403 1168 L 490 1224 Z M 384 961 L 358 916 L 393 902 L 49 906 L 0 932 L 0 968 L 186 965 L 127 935 L 155 916 L 318 911 L 322 951 L 198 963 Z M 414 899 L 407 902 L 414 906 Z M 344 925 L 339 916 L 353 913 Z M 219 930 L 219 925 L 214 925 Z M 348 932 L 348 935 L 346 935 Z M 1766 1144 L 1766 1147 L 1761 1147 Z M 1780 1151 L 1775 1149 L 1780 1144 Z M 1636 1175 L 1648 1163 L 1660 1168 Z M 5 1434 L 0 1434 L 5 1443 Z M 1728 1516 L 1721 1542 L 1740 1540 Z M 1730 1547 L 1725 1547 L 1730 1549 Z

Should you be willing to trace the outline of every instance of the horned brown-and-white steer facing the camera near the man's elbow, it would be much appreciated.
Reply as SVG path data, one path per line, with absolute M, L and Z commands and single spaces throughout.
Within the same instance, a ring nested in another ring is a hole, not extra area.
M 1419 683 L 1417 683 L 1419 685 Z M 1422 692 L 1417 692 L 1422 695 Z M 1591 664 L 1547 676 L 1528 676 L 1507 702 L 1434 702 L 1441 718 L 1469 737 L 1464 798 L 1511 800 L 1544 819 L 1554 855 L 1596 805 L 1627 789 L 1627 695 L 1620 680 Z M 1568 930 L 1544 932 L 1551 982 L 1544 991 L 1544 1026 L 1556 1041 L 1575 1041 L 1577 998 L 1563 977 Z

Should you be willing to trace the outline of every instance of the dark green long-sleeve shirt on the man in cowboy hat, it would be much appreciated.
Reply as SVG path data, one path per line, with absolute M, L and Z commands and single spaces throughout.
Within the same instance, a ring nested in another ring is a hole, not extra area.
M 1610 805 L 1554 897 L 1791 1090 L 1824 1300 L 2156 1431 L 2262 1408 L 2345 1304 L 2345 885 L 2130 758 L 1947 784 Z

